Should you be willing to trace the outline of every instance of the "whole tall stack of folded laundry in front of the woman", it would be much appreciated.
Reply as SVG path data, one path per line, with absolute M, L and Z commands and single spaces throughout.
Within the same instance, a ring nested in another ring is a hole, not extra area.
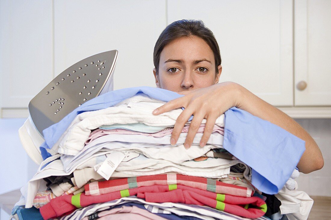
M 112 91 L 45 129 L 44 161 L 22 188 L 13 217 L 305 218 L 311 199 L 292 193 L 299 192 L 295 167 L 304 141 L 232 108 L 217 118 L 205 147 L 203 120 L 184 148 L 192 117 L 171 146 L 182 109 L 152 111 L 180 96 L 151 87 Z

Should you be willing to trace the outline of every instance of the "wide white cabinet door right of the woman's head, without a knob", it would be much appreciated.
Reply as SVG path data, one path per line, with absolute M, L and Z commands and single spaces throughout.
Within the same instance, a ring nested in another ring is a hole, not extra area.
M 168 0 L 168 24 L 199 19 L 219 44 L 220 82 L 241 84 L 276 106 L 293 105 L 291 0 Z

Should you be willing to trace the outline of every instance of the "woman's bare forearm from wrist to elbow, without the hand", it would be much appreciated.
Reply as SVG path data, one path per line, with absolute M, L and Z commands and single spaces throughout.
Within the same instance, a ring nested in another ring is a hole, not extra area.
M 236 84 L 234 85 L 238 91 L 238 106 L 237 108 L 248 111 L 249 113 L 267 120 L 279 127 L 285 129 L 291 134 L 306 141 L 306 151 L 302 155 L 297 167 L 300 172 L 310 173 L 319 170 L 324 165 L 324 160 L 321 151 L 319 150 L 314 139 L 303 129 L 295 120 L 289 117 L 281 110 L 264 102 L 262 99 Z

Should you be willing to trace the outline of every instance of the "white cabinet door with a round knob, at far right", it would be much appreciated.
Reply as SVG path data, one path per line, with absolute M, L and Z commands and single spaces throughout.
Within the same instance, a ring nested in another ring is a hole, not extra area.
M 295 105 L 331 105 L 331 1 L 294 3 Z

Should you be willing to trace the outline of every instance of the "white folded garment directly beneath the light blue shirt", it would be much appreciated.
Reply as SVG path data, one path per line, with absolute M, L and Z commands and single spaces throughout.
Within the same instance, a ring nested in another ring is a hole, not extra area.
M 83 149 L 91 130 L 99 128 L 102 124 L 144 123 L 149 126 L 174 126 L 176 118 L 182 110 L 171 110 L 161 115 L 153 115 L 152 111 L 161 105 L 160 103 L 138 102 L 132 103 L 130 108 L 128 108 L 128 104 L 123 104 L 118 107 L 81 113 L 77 117 L 83 119 L 73 124 L 69 130 L 67 129 L 66 135 L 59 143 L 58 153 L 78 154 Z M 224 126 L 223 117 L 216 120 L 216 125 Z M 218 141 L 218 143 L 220 142 Z

